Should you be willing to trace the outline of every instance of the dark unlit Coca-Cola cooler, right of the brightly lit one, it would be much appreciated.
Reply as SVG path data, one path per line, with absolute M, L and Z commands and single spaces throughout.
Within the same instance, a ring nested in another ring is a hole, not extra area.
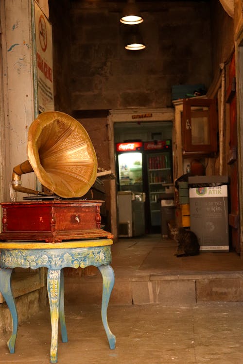
M 171 140 L 144 143 L 146 155 L 150 230 L 161 226 L 161 199 L 171 198 L 167 193 L 173 185 Z

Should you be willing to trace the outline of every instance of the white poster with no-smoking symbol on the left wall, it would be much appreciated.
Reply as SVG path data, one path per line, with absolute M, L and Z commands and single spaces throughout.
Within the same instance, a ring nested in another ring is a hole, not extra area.
M 52 26 L 35 2 L 35 44 L 37 66 L 38 109 L 54 110 Z

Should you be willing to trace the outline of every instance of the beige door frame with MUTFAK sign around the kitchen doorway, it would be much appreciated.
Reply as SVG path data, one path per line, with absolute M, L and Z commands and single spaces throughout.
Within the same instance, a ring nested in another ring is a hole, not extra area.
M 110 169 L 115 172 L 115 142 L 114 142 L 114 124 L 115 123 L 131 123 L 131 122 L 154 122 L 154 121 L 171 121 L 174 123 L 174 108 L 158 108 L 158 109 L 125 109 L 125 110 L 109 110 L 108 130 L 109 130 L 109 165 Z M 174 155 L 174 153 L 173 153 Z M 111 232 L 114 240 L 118 238 L 117 223 L 117 189 L 116 180 L 110 183 L 110 224 Z

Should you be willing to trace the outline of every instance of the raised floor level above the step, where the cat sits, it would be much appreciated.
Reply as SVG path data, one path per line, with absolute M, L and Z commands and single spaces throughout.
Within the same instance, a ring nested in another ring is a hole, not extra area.
M 112 265 L 114 269 L 118 270 L 118 273 L 120 273 L 119 268 L 123 268 L 124 275 L 131 267 L 140 274 L 243 270 L 243 259 L 233 251 L 201 252 L 197 256 L 177 258 L 174 256 L 176 248 L 177 244 L 174 240 L 161 239 L 159 234 L 122 238 L 112 246 Z

